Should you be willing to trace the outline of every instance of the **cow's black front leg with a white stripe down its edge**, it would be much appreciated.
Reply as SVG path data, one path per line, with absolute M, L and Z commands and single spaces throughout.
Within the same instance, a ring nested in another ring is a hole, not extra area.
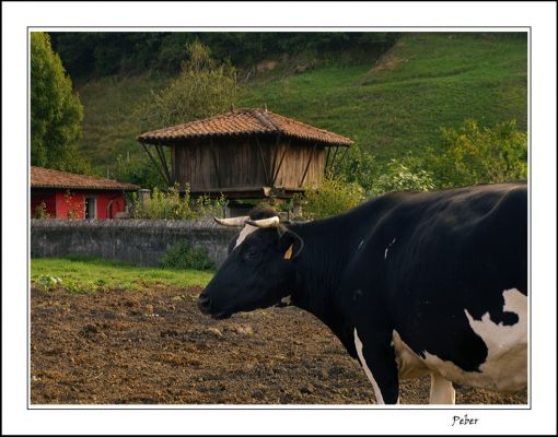
M 379 404 L 399 403 L 399 380 L 395 352 L 388 341 L 380 341 L 377 335 L 367 336 L 362 332 L 362 340 L 354 329 L 354 345 L 360 364 L 374 388 Z

